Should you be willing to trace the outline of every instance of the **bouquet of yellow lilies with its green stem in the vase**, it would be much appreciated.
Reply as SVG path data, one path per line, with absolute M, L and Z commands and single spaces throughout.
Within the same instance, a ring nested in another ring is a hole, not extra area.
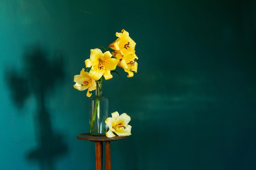
M 74 88 L 79 91 L 87 89 L 87 97 L 92 95 L 92 93 L 90 93 L 91 91 L 96 89 L 101 91 L 103 78 L 105 78 L 105 80 L 111 79 L 113 77 L 111 73 L 117 73 L 117 71 L 115 71 L 117 66 L 123 68 L 124 71 L 128 73 L 127 77 L 133 77 L 134 73 L 137 73 L 138 57 L 135 54 L 135 41 L 130 38 L 129 33 L 124 29 L 122 29 L 121 33 L 117 32 L 116 36 L 118 37 L 117 40 L 109 44 L 107 49 L 102 46 L 99 47 L 105 50 L 104 53 L 99 48 L 91 49 L 90 58 L 85 60 L 86 71 L 85 68 L 82 68 L 80 75 L 74 76 Z M 109 48 L 113 51 L 108 51 Z M 98 101 L 96 99 L 93 117 L 90 122 L 90 132 L 94 126 L 98 105 L 99 99 Z M 109 127 L 109 129 L 113 128 Z M 125 129 L 126 128 L 124 128 L 124 130 Z

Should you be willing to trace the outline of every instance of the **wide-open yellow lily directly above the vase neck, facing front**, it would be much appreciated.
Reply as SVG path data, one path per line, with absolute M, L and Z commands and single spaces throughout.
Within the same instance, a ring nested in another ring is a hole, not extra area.
M 89 76 L 96 81 L 102 76 L 106 80 L 111 79 L 113 76 L 110 74 L 110 71 L 115 70 L 119 62 L 118 59 L 111 57 L 110 51 L 102 53 L 100 49 L 91 49 L 90 58 L 85 60 L 85 66 L 91 67 Z

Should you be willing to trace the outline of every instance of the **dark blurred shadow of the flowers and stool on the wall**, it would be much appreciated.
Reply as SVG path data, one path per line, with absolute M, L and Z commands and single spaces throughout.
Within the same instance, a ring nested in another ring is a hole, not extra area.
M 31 149 L 26 157 L 28 161 L 38 161 L 41 170 L 54 170 L 54 160 L 67 152 L 67 144 L 63 142 L 63 135 L 52 129 L 46 98 L 52 94 L 57 81 L 64 78 L 63 57 L 54 56 L 53 60 L 47 60 L 47 53 L 38 45 L 23 57 L 25 69 L 8 71 L 7 79 L 18 108 L 22 108 L 29 95 L 34 95 L 36 100 L 34 122 L 38 146 Z

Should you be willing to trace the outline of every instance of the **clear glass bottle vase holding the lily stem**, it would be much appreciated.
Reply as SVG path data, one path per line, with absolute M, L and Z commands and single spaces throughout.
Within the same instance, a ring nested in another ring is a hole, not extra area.
M 103 96 L 103 81 L 96 81 L 95 95 L 89 99 L 89 124 L 91 135 L 105 135 L 108 126 L 105 120 L 108 118 L 108 99 Z

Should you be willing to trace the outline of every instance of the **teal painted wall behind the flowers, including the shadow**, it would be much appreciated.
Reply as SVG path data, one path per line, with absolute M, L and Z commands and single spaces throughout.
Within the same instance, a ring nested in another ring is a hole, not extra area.
M 132 118 L 112 169 L 256 169 L 253 0 L 0 0 L 0 169 L 94 169 L 73 76 L 121 29 L 139 66 L 104 83 Z

